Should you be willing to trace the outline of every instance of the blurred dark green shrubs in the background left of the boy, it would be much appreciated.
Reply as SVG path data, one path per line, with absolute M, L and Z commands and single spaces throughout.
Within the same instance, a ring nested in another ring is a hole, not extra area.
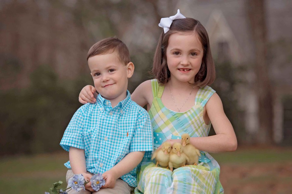
M 64 130 L 81 106 L 79 92 L 89 83 L 85 77 L 88 76 L 61 82 L 50 66 L 43 65 L 31 74 L 28 88 L 1 91 L 0 153 L 28 154 L 60 149 Z

